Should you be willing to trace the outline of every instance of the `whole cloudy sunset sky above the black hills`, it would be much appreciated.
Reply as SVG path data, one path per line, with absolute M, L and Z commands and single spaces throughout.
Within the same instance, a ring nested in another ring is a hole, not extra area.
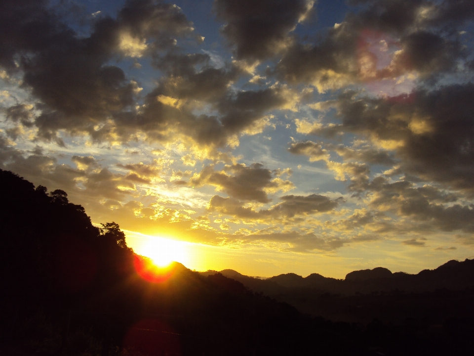
M 196 270 L 472 259 L 473 30 L 472 0 L 3 0 L 0 168 Z

